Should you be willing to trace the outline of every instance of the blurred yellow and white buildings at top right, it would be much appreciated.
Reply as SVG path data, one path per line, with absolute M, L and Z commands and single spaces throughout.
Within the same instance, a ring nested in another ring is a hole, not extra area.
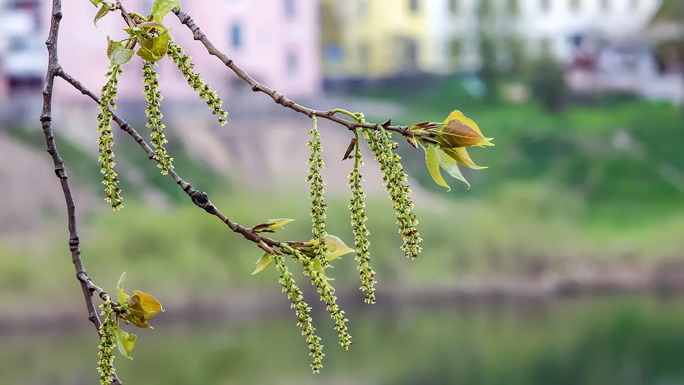
M 444 75 L 548 53 L 570 62 L 593 36 L 640 34 L 661 0 L 321 0 L 326 77 Z M 330 31 L 330 29 L 337 29 Z

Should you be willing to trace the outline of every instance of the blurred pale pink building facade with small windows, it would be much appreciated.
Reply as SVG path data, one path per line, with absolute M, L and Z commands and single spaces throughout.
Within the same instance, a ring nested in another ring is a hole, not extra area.
M 18 0 L 5 0 L 18 1 Z M 44 41 L 51 1 L 40 2 L 40 25 L 36 38 Z M 131 12 L 148 13 L 152 0 L 126 0 Z M 213 44 L 252 77 L 271 88 L 301 97 L 318 94 L 321 88 L 319 55 L 319 17 L 317 0 L 185 0 L 183 10 L 190 14 Z M 108 60 L 105 54 L 107 35 L 114 40 L 126 38 L 119 14 L 111 13 L 95 27 L 92 18 L 96 12 L 88 1 L 64 1 L 64 18 L 60 29 L 60 63 L 66 72 L 81 80 L 86 87 L 99 92 L 105 83 Z M 244 81 L 218 59 L 209 56 L 200 42 L 174 14 L 164 19 L 172 28 L 171 34 L 185 51 L 194 57 L 196 72 L 220 96 L 239 97 L 240 92 L 251 92 Z M 123 67 L 119 99 L 142 98 L 140 83 L 140 57 L 134 56 Z M 192 90 L 168 58 L 159 61 L 161 87 L 168 98 L 192 98 Z M 63 98 L 79 98 L 79 94 L 66 87 L 57 87 Z M 7 96 L 7 90 L 2 92 Z

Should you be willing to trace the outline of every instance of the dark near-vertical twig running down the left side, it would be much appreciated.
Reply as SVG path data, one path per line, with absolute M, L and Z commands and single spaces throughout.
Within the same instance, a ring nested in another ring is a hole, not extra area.
M 64 200 L 66 201 L 66 212 L 68 217 L 69 228 L 69 250 L 71 250 L 71 261 L 76 269 L 76 276 L 81 283 L 81 291 L 86 300 L 86 308 L 88 308 L 88 319 L 92 321 L 95 330 L 100 328 L 100 317 L 95 304 L 92 301 L 92 293 L 97 292 L 101 297 L 105 297 L 107 293 L 100 287 L 97 287 L 86 274 L 86 269 L 83 267 L 81 261 L 81 249 L 79 247 L 79 232 L 76 225 L 76 204 L 74 202 L 71 187 L 69 186 L 68 176 L 64 168 L 64 160 L 57 152 L 57 144 L 55 144 L 55 136 L 52 131 L 52 96 L 53 86 L 55 84 L 55 76 L 60 72 L 60 63 L 57 59 L 57 38 L 60 33 L 60 21 L 62 20 L 62 0 L 53 0 L 52 2 L 52 18 L 50 23 L 50 32 L 45 42 L 49 55 L 47 74 L 45 75 L 45 83 L 43 87 L 43 107 L 40 114 L 40 123 L 43 134 L 47 144 L 47 152 L 51 155 L 55 165 L 55 175 L 60 178 L 62 184 L 62 192 L 64 193 Z M 120 385 L 121 382 L 113 374 L 112 384 Z

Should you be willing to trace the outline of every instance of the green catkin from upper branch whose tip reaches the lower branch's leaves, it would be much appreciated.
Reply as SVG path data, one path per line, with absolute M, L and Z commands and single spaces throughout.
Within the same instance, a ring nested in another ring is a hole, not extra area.
M 321 170 L 324 168 L 323 159 L 321 159 L 321 152 L 323 152 L 323 147 L 321 146 L 321 134 L 318 131 L 318 121 L 315 116 L 313 119 L 313 127 L 308 131 L 311 135 L 311 140 L 306 144 L 309 150 L 311 150 L 311 157 L 308 158 L 307 164 L 308 177 L 307 182 L 311 182 L 311 192 L 308 194 L 308 198 L 311 199 L 311 232 L 313 233 L 313 238 L 317 241 L 315 245 L 315 254 L 317 258 L 321 261 L 323 267 L 330 265 L 326 255 L 328 254 L 328 247 L 326 245 L 326 209 L 328 206 L 323 201 L 324 186 L 326 183 L 323 181 L 323 176 L 321 176 Z

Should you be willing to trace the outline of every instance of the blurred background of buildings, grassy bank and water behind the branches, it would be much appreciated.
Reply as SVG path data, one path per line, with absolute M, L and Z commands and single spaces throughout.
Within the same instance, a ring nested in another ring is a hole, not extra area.
M 126 1 L 150 12 L 153 1 Z M 97 339 L 70 263 L 64 198 L 40 132 L 47 0 L 0 1 L 0 373 L 3 384 L 93 384 Z M 115 131 L 125 208 L 103 201 L 97 106 L 57 79 L 53 128 L 75 189 L 83 262 L 107 291 L 155 295 L 166 313 L 139 334 L 130 384 L 684 384 L 684 1 L 185 1 L 207 36 L 258 81 L 315 109 L 397 124 L 464 111 L 496 147 L 473 149 L 473 187 L 447 194 L 402 143 L 423 254 L 399 250 L 380 170 L 363 168 L 378 304 L 356 262 L 337 278 L 356 345 L 326 345 L 311 375 L 293 311 L 261 254 L 196 209 Z M 97 92 L 106 36 L 88 1 L 65 1 L 60 62 Z M 159 66 L 168 150 L 186 181 L 251 226 L 290 217 L 310 237 L 306 130 L 209 57 L 174 15 L 176 42 L 224 99 L 228 126 L 168 60 Z M 144 134 L 140 59 L 118 111 Z M 328 230 L 353 243 L 341 162 L 349 133 L 321 123 Z

